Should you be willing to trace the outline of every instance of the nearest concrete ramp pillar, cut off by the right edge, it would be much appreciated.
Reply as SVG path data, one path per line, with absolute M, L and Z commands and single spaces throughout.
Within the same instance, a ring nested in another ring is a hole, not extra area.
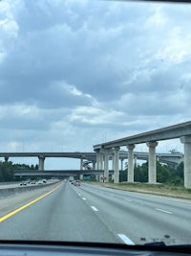
M 191 136 L 180 137 L 180 142 L 184 146 L 183 174 L 184 187 L 191 188 Z

